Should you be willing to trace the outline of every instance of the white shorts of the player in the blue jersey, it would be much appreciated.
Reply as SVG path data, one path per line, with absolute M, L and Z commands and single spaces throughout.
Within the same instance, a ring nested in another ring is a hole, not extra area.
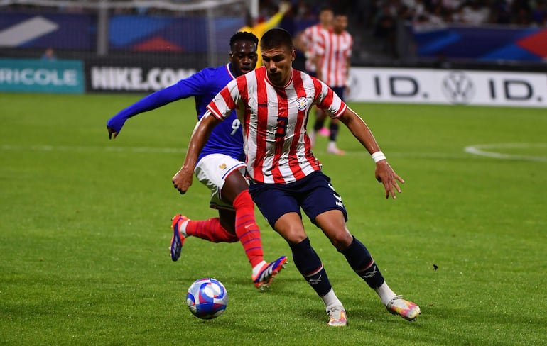
M 226 178 L 235 170 L 239 170 L 245 177 L 245 167 L 245 162 L 224 154 L 207 155 L 197 162 L 194 173 L 197 179 L 211 190 L 211 208 L 234 210 L 232 205 L 222 201 L 220 192 Z

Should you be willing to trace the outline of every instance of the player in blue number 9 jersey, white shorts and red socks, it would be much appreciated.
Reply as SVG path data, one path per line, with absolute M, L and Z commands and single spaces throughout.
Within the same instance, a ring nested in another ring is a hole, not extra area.
M 195 98 L 197 118 L 201 119 L 207 111 L 207 104 L 228 82 L 254 70 L 258 43 L 259 39 L 252 33 L 235 33 L 230 38 L 231 52 L 227 65 L 202 69 L 124 108 L 107 122 L 109 138 L 116 138 L 125 121 L 132 116 L 190 96 Z M 269 263 L 264 261 L 254 203 L 249 195 L 249 184 L 244 178 L 244 161 L 242 124 L 233 112 L 211 133 L 194 171 L 197 179 L 211 190 L 210 207 L 218 210 L 218 217 L 193 221 L 176 215 L 171 225 L 171 259 L 178 260 L 186 238 L 191 235 L 211 242 L 239 240 L 251 263 L 254 285 L 264 289 L 281 271 L 287 257 L 281 256 Z

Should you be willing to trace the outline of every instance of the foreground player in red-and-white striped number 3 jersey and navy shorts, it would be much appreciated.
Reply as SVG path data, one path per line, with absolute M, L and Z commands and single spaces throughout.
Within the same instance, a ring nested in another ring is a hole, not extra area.
M 347 229 L 342 197 L 321 172 L 310 150 L 305 125 L 310 107 L 325 109 L 350 129 L 376 163 L 375 176 L 384 184 L 385 196 L 396 198 L 404 182 L 388 164 L 368 126 L 327 84 L 293 69 L 296 56 L 291 34 L 274 28 L 261 39 L 264 67 L 229 82 L 207 106 L 195 128 L 183 167 L 173 184 L 184 194 L 192 184 L 192 172 L 207 135 L 237 109 L 244 132 L 249 191 L 261 213 L 287 242 L 296 268 L 322 298 L 328 325 L 347 325 L 344 306 L 332 289 L 320 257 L 305 232 L 300 209 L 345 256 L 354 272 L 364 279 L 390 313 L 414 320 L 416 303 L 396 295 L 386 284 L 376 262 L 362 242 Z

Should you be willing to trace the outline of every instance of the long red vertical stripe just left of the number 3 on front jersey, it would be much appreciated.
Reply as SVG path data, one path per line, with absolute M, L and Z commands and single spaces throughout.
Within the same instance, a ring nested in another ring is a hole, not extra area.
M 266 93 L 266 69 L 255 69 L 256 76 L 256 157 L 253 164 L 253 177 L 264 182 L 264 157 L 268 130 L 268 94 Z M 247 116 L 250 118 L 250 115 Z

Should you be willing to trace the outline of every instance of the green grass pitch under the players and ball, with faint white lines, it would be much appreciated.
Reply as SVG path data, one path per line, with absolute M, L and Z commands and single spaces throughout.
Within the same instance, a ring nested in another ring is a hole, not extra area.
M 350 104 L 406 180 L 403 193 L 384 198 L 343 126 L 347 155 L 325 154 L 325 138 L 315 154 L 350 230 L 422 315 L 389 314 L 305 219 L 347 309 L 337 329 L 292 263 L 260 292 L 239 243 L 189 238 L 170 260 L 170 218 L 216 212 L 199 182 L 185 196 L 171 184 L 193 100 L 136 116 L 108 140 L 107 118 L 140 97 L 0 94 L 0 345 L 547 344 L 546 109 Z M 266 259 L 291 262 L 256 216 Z M 186 307 L 200 277 L 229 292 L 215 320 Z

